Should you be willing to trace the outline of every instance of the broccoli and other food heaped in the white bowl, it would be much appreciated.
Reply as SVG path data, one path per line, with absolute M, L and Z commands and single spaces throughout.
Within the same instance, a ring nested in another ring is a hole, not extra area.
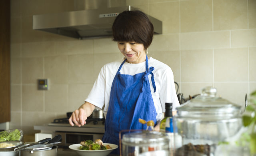
M 107 150 L 111 149 L 109 145 L 104 146 L 102 140 L 96 139 L 95 142 L 92 140 L 85 140 L 80 142 L 80 150 Z

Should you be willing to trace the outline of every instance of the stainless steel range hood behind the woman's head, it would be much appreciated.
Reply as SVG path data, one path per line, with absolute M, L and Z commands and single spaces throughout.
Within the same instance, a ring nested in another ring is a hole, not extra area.
M 132 6 L 121 6 L 34 15 L 33 29 L 77 39 L 110 37 L 116 16 L 133 9 Z M 162 21 L 148 17 L 154 25 L 154 33 L 162 34 Z

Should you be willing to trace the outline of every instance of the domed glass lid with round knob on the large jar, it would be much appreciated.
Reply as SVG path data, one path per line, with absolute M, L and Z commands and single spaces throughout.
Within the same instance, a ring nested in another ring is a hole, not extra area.
M 240 115 L 241 106 L 221 97 L 216 97 L 217 90 L 213 87 L 202 89 L 200 96 L 187 101 L 178 110 L 179 116 L 190 118 L 230 118 Z

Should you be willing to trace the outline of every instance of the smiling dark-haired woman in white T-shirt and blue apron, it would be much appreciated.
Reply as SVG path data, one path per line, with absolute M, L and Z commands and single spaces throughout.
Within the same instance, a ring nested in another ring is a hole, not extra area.
M 120 130 L 146 129 L 139 118 L 153 120 L 159 129 L 157 123 L 165 111 L 165 102 L 172 102 L 173 110 L 179 102 L 171 68 L 146 55 L 154 33 L 146 14 L 124 11 L 116 17 L 112 30 L 125 60 L 102 67 L 88 98 L 69 122 L 83 126 L 95 108 L 105 105 L 102 141 L 118 144 Z

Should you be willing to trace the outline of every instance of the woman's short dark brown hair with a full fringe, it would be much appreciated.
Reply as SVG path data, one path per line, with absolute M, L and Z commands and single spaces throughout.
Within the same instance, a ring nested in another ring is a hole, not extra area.
M 124 11 L 120 13 L 113 25 L 113 40 L 140 43 L 146 50 L 154 34 L 154 26 L 148 16 L 140 10 Z

